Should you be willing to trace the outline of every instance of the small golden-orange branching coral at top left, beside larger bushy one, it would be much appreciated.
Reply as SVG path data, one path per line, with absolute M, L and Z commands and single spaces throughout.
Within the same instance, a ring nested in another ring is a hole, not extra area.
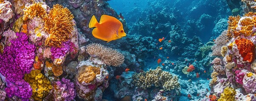
M 42 3 L 33 3 L 28 7 L 25 7 L 23 20 L 33 19 L 34 17 L 43 18 L 46 14 L 45 8 L 42 7 Z

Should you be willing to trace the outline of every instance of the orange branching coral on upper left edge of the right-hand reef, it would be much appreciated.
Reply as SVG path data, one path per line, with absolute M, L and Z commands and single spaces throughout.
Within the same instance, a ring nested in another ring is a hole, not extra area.
M 229 16 L 229 18 L 228 18 L 228 20 L 229 20 L 228 21 L 228 33 L 227 33 L 228 40 L 230 40 L 232 38 L 232 33 L 233 33 L 233 36 L 240 35 L 240 33 L 236 31 L 236 27 L 237 27 L 239 19 L 240 19 L 240 16 Z

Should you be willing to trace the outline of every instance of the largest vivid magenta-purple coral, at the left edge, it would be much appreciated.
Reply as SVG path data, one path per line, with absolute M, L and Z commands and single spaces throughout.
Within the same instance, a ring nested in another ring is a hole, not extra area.
M 0 73 L 10 82 L 22 80 L 30 72 L 35 57 L 36 47 L 28 43 L 28 36 L 23 32 L 16 35 L 18 38 L 11 40 L 11 45 L 0 54 Z

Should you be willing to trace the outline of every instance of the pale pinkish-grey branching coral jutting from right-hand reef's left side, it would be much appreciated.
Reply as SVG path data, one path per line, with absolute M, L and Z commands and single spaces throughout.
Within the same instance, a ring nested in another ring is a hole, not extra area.
M 226 45 L 227 42 L 227 30 L 224 30 L 219 37 L 216 38 L 214 41 L 214 45 L 211 47 L 212 55 L 214 56 L 222 56 L 221 54 L 221 48 L 222 46 Z

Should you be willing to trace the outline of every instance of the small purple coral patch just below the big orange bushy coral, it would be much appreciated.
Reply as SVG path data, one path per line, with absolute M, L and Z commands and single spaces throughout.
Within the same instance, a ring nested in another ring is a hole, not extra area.
M 68 53 L 69 50 L 70 50 L 70 41 L 66 41 L 61 44 L 60 48 L 52 47 L 51 53 L 52 53 L 53 58 L 55 59 L 55 58 L 64 57 Z

